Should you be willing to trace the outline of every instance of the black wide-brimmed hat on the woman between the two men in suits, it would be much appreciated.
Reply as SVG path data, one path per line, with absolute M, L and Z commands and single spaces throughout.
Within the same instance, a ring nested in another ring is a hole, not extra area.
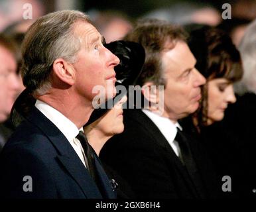
M 129 85 L 135 85 L 137 78 L 139 78 L 139 75 L 141 74 L 145 62 L 145 50 L 143 46 L 137 42 L 124 40 L 110 42 L 109 44 L 104 44 L 104 46 L 120 60 L 120 63 L 115 66 L 115 78 L 117 78 L 115 86 L 125 86 L 126 92 L 120 94 L 117 93 L 116 95 L 116 97 L 123 97 L 129 91 Z M 106 105 L 113 105 L 118 102 L 113 101 L 114 99 L 115 97 L 100 105 L 99 109 L 94 109 L 85 126 L 94 123 L 94 121 L 105 115 L 109 110 Z M 110 104 L 108 104 L 109 102 Z

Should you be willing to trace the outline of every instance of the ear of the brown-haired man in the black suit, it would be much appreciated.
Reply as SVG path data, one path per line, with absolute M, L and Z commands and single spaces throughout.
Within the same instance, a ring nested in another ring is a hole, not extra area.
M 144 97 L 150 103 L 159 103 L 159 90 L 158 86 L 154 85 L 153 82 L 148 81 L 146 82 L 143 87 L 141 87 L 141 92 L 143 93 Z

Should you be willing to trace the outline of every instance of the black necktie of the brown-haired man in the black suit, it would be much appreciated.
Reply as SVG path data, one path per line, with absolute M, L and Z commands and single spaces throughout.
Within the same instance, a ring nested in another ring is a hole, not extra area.
M 200 175 L 198 174 L 198 168 L 196 166 L 196 162 L 194 161 L 194 158 L 192 156 L 192 152 L 190 149 L 190 141 L 180 129 L 177 128 L 177 134 L 175 139 L 176 142 L 178 142 L 180 147 L 180 160 L 182 161 L 182 164 L 186 167 L 186 170 L 188 171 L 188 174 L 190 176 L 190 179 L 192 180 L 194 186 L 196 187 L 197 193 L 200 195 L 200 197 L 204 197 L 204 187 L 202 185 L 202 180 L 200 178 Z

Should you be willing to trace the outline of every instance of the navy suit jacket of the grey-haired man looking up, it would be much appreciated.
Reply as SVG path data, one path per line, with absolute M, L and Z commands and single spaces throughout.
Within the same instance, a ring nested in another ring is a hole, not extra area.
M 64 134 L 34 108 L 1 152 L 0 197 L 115 198 L 95 157 L 100 189 Z M 32 191 L 23 190 L 25 176 L 32 178 Z

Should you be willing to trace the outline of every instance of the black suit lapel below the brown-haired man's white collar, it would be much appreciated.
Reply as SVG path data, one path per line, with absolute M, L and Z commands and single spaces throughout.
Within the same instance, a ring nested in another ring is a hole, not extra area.
M 162 132 L 158 129 L 158 127 L 141 111 L 141 109 L 136 109 L 137 111 L 133 110 L 133 114 L 131 116 L 131 119 L 134 119 L 135 121 L 139 122 L 141 125 L 145 125 L 145 129 L 147 129 L 148 133 L 151 135 L 153 140 L 156 140 L 157 143 L 164 148 L 166 151 L 166 155 L 169 157 L 170 162 L 176 167 L 178 172 L 180 172 L 180 176 L 182 176 L 184 182 L 186 182 L 186 185 L 188 185 L 190 191 L 194 194 L 195 197 L 198 197 L 198 193 L 194 189 L 194 185 L 192 185 L 192 182 L 190 180 L 190 177 L 188 176 L 188 172 L 186 171 L 186 168 L 184 168 L 182 162 L 180 162 L 180 159 L 178 156 L 176 156 L 174 150 L 166 140 L 166 138 L 163 136 Z M 136 118 L 135 118 L 136 117 Z

